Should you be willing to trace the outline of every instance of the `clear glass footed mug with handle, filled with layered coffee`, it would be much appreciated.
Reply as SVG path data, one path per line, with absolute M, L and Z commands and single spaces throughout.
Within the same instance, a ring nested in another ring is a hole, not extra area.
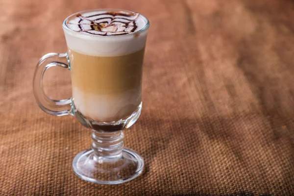
M 97 25 L 95 17 L 104 12 L 112 15 L 99 19 L 100 22 L 107 23 L 109 18 L 125 21 L 125 13 L 129 13 L 140 17 L 141 28 L 131 33 L 103 36 L 69 27 L 74 17 L 80 18 L 78 24 L 84 21 Z M 117 13 L 123 17 L 117 17 Z M 131 11 L 96 9 L 69 16 L 62 27 L 68 51 L 48 53 L 38 62 L 33 78 L 36 101 L 45 112 L 56 116 L 73 115 L 93 130 L 91 149 L 73 159 L 77 176 L 98 184 L 132 180 L 143 172 L 144 160 L 134 150 L 124 148 L 123 129 L 133 125 L 141 114 L 142 66 L 149 22 Z M 55 66 L 71 71 L 72 98 L 53 100 L 44 93 L 43 75 Z

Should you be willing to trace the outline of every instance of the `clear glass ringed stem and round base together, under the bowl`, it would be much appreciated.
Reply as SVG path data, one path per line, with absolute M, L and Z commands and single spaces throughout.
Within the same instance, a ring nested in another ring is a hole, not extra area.
M 92 139 L 92 149 L 80 152 L 73 159 L 73 171 L 83 180 L 121 184 L 143 172 L 143 158 L 135 151 L 123 148 L 122 131 L 93 131 Z

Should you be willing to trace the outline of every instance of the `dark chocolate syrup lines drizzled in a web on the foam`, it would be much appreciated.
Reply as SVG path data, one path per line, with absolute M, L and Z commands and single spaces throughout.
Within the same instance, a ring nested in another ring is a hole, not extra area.
M 138 28 L 136 24 L 136 19 L 139 17 L 138 13 L 122 13 L 122 12 L 105 12 L 94 14 L 91 16 L 82 16 L 81 14 L 77 14 L 80 20 L 77 24 L 68 23 L 72 25 L 77 25 L 79 30 L 76 32 L 85 32 L 93 35 L 124 35 L 133 33 Z M 93 18 L 94 19 L 90 19 Z M 101 17 L 101 18 L 100 18 Z M 89 21 L 90 23 L 85 23 L 85 21 Z M 83 29 L 83 25 L 90 25 L 91 29 Z M 124 27 L 123 31 L 102 31 L 102 28 L 106 28 L 109 26 L 113 26 L 117 30 L 119 27 Z M 94 33 L 93 30 L 98 31 L 99 33 Z M 91 32 L 92 31 L 92 32 Z

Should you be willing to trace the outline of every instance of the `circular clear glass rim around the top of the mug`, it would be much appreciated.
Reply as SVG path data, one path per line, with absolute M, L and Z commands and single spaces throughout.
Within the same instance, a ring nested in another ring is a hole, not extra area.
M 134 12 L 134 11 L 130 11 L 130 10 L 124 10 L 124 9 L 107 9 L 107 8 L 101 8 L 101 9 L 88 9 L 88 10 L 83 10 L 83 11 L 79 11 L 79 12 L 76 12 L 76 13 L 73 13 L 73 14 L 71 14 L 70 16 L 68 16 L 68 17 L 66 17 L 66 19 L 64 19 L 64 21 L 62 22 L 62 27 L 63 27 L 63 29 L 64 30 L 67 30 L 67 31 L 69 31 L 70 33 L 72 33 L 73 35 L 77 35 L 77 36 L 82 36 L 82 37 L 85 37 L 85 38 L 114 38 L 114 37 L 116 37 L 116 38 L 118 38 L 118 37 L 129 37 L 129 36 L 134 36 L 134 35 L 136 35 L 136 34 L 139 34 L 139 33 L 141 33 L 141 32 L 144 32 L 144 31 L 146 31 L 148 28 L 149 28 L 149 26 L 150 26 L 150 23 L 149 23 L 149 20 L 144 16 L 144 15 L 142 15 L 142 14 L 140 14 L 139 13 L 139 15 L 146 21 L 146 25 L 143 27 L 143 28 L 141 28 L 140 30 L 138 30 L 138 31 L 135 31 L 135 32 L 131 32 L 131 33 L 128 33 L 128 34 L 123 34 L 123 35 L 109 35 L 109 36 L 99 36 L 99 35 L 91 35 L 91 34 L 84 34 L 84 33 L 80 33 L 80 32 L 77 32 L 77 31 L 74 31 L 74 30 L 72 30 L 72 29 L 70 29 L 67 25 L 66 25 L 66 22 L 67 22 L 67 20 L 70 18 L 70 17 L 72 17 L 72 16 L 74 16 L 74 15 L 77 15 L 77 14 L 81 14 L 81 13 L 85 13 L 85 12 L 93 12 L 93 11 L 106 11 L 106 10 L 109 10 L 109 11 L 125 11 L 125 12 L 131 12 L 131 13 L 136 13 L 136 12 Z M 136 37 L 136 36 L 134 36 L 134 37 Z

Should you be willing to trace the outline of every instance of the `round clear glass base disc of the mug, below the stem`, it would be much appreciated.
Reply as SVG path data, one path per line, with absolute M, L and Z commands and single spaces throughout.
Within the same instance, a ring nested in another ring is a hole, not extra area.
M 83 180 L 97 184 L 121 184 L 139 176 L 144 169 L 143 158 L 131 149 L 111 157 L 97 156 L 93 149 L 77 154 L 73 171 Z

